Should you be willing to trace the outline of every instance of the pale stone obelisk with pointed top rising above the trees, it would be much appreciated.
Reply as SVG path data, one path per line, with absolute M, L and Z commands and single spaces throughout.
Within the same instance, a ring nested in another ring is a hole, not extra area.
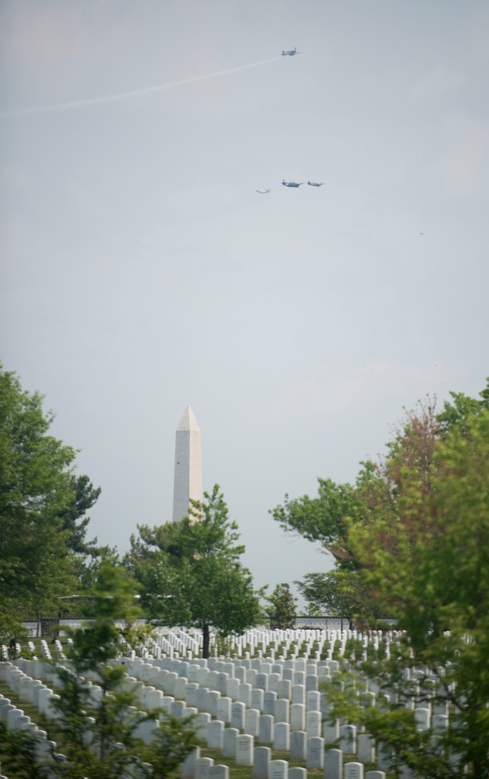
M 187 406 L 175 436 L 174 522 L 181 522 L 188 516 L 191 498 L 202 500 L 202 458 L 200 428 L 192 408 Z

